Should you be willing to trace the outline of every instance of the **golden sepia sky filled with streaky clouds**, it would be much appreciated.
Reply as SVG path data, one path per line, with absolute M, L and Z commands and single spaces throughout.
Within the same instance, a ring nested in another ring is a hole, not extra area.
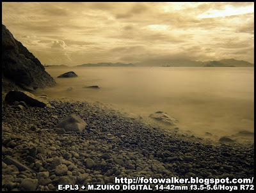
M 3 2 L 2 24 L 43 65 L 254 63 L 253 2 Z

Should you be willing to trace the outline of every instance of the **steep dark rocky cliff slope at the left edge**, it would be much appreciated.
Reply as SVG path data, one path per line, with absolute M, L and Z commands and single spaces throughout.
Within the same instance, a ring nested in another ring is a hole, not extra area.
M 2 91 L 56 85 L 44 66 L 2 24 Z

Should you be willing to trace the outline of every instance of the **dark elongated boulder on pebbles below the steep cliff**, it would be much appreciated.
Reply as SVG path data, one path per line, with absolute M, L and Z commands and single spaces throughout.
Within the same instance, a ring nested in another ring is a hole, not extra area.
M 49 105 L 47 102 L 41 100 L 37 96 L 29 93 L 28 91 L 9 91 L 4 99 L 6 102 L 13 103 L 15 101 L 24 101 L 31 107 L 46 107 Z

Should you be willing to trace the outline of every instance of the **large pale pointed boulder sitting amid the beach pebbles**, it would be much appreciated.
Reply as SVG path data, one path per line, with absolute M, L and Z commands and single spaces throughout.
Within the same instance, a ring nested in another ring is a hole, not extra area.
M 81 132 L 86 127 L 87 123 L 85 123 L 84 120 L 76 116 L 76 114 L 71 114 L 67 117 L 65 117 L 58 125 L 56 125 L 56 128 L 64 128 L 66 132 L 72 131 L 72 132 Z

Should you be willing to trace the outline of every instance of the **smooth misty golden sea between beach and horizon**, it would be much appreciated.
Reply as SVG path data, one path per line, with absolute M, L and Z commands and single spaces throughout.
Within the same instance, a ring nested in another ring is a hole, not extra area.
M 48 67 L 58 86 L 43 91 L 49 99 L 112 104 L 116 109 L 148 117 L 164 111 L 177 127 L 198 134 L 232 135 L 253 131 L 253 68 Z M 74 71 L 78 77 L 57 78 Z M 100 89 L 83 88 L 98 85 Z M 72 87 L 72 91 L 67 88 Z

